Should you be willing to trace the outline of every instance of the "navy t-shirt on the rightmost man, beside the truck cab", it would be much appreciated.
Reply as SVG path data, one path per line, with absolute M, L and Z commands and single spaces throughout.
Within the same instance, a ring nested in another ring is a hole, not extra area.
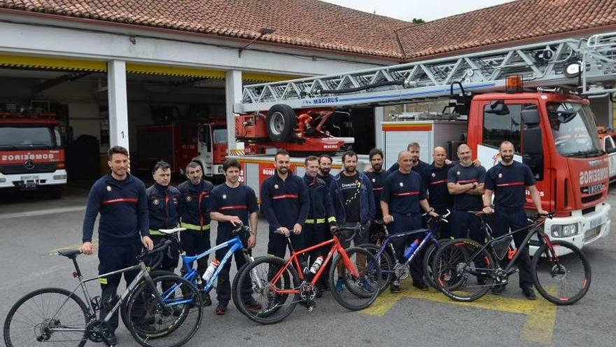
M 488 170 L 485 188 L 494 191 L 494 205 L 520 207 L 526 202 L 526 186 L 535 184 L 531 168 L 514 161 L 511 165 L 498 163 Z

